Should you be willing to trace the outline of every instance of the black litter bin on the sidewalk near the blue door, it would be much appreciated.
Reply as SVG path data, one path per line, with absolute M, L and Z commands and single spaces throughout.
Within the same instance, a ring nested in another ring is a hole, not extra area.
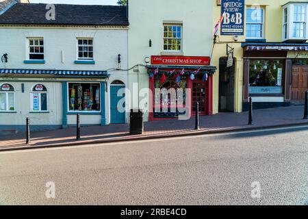
M 143 111 L 139 109 L 131 110 L 129 115 L 129 134 L 141 135 L 143 129 Z

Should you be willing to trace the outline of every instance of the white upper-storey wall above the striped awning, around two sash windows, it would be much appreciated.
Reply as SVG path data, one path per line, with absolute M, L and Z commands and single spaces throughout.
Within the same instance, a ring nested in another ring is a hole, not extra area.
M 27 38 L 31 37 L 44 38 L 45 64 L 23 63 L 27 60 Z M 77 60 L 77 38 L 87 37 L 94 38 L 95 64 L 74 64 Z M 6 68 L 107 70 L 118 68 L 118 54 L 121 54 L 121 67 L 127 68 L 127 29 L 0 27 L 0 54 L 3 53 L 8 53 Z

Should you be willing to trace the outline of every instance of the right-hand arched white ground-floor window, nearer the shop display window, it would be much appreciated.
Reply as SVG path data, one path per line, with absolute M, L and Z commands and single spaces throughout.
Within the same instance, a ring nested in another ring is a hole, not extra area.
M 31 92 L 32 112 L 47 112 L 47 88 L 36 84 Z

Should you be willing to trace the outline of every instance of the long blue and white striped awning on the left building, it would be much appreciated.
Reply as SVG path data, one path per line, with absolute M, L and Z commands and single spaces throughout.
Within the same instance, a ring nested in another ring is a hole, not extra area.
M 106 70 L 29 70 L 0 69 L 0 74 L 18 75 L 55 75 L 57 77 L 109 77 Z

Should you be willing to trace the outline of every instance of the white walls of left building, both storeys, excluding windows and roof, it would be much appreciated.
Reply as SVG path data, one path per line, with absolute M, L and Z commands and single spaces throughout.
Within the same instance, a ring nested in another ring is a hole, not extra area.
M 64 28 L 64 27 L 0 27 L 0 56 L 8 53 L 8 63 L 0 68 L 8 69 L 55 69 L 55 70 L 108 70 L 110 79 L 107 86 L 114 80 L 120 80 L 127 86 L 127 70 L 111 70 L 112 68 L 128 68 L 127 29 L 104 28 Z M 45 64 L 24 64 L 27 60 L 27 38 L 44 38 Z M 77 38 L 93 38 L 95 64 L 75 64 L 77 60 Z M 62 51 L 64 62 L 62 62 Z M 121 63 L 118 64 L 118 54 Z M 0 75 L 0 83 L 3 83 Z M 10 75 L 12 77 L 12 75 Z M 20 78 L 22 80 L 22 78 Z M 40 79 L 38 79 L 40 80 Z M 74 79 L 81 81 L 81 79 Z M 90 80 L 90 79 L 89 79 Z M 21 82 L 12 82 L 16 87 L 17 114 L 0 114 L 0 125 L 21 125 L 25 118 L 31 118 L 33 125 L 62 125 L 62 85 L 47 83 L 49 88 L 49 114 L 29 114 L 29 86 L 25 83 L 25 93 L 21 93 Z M 44 83 L 45 84 L 45 83 Z M 105 110 L 107 124 L 110 123 L 110 93 L 105 93 Z M 101 124 L 100 115 L 83 116 L 83 124 Z M 75 115 L 68 115 L 68 125 L 75 124 Z

